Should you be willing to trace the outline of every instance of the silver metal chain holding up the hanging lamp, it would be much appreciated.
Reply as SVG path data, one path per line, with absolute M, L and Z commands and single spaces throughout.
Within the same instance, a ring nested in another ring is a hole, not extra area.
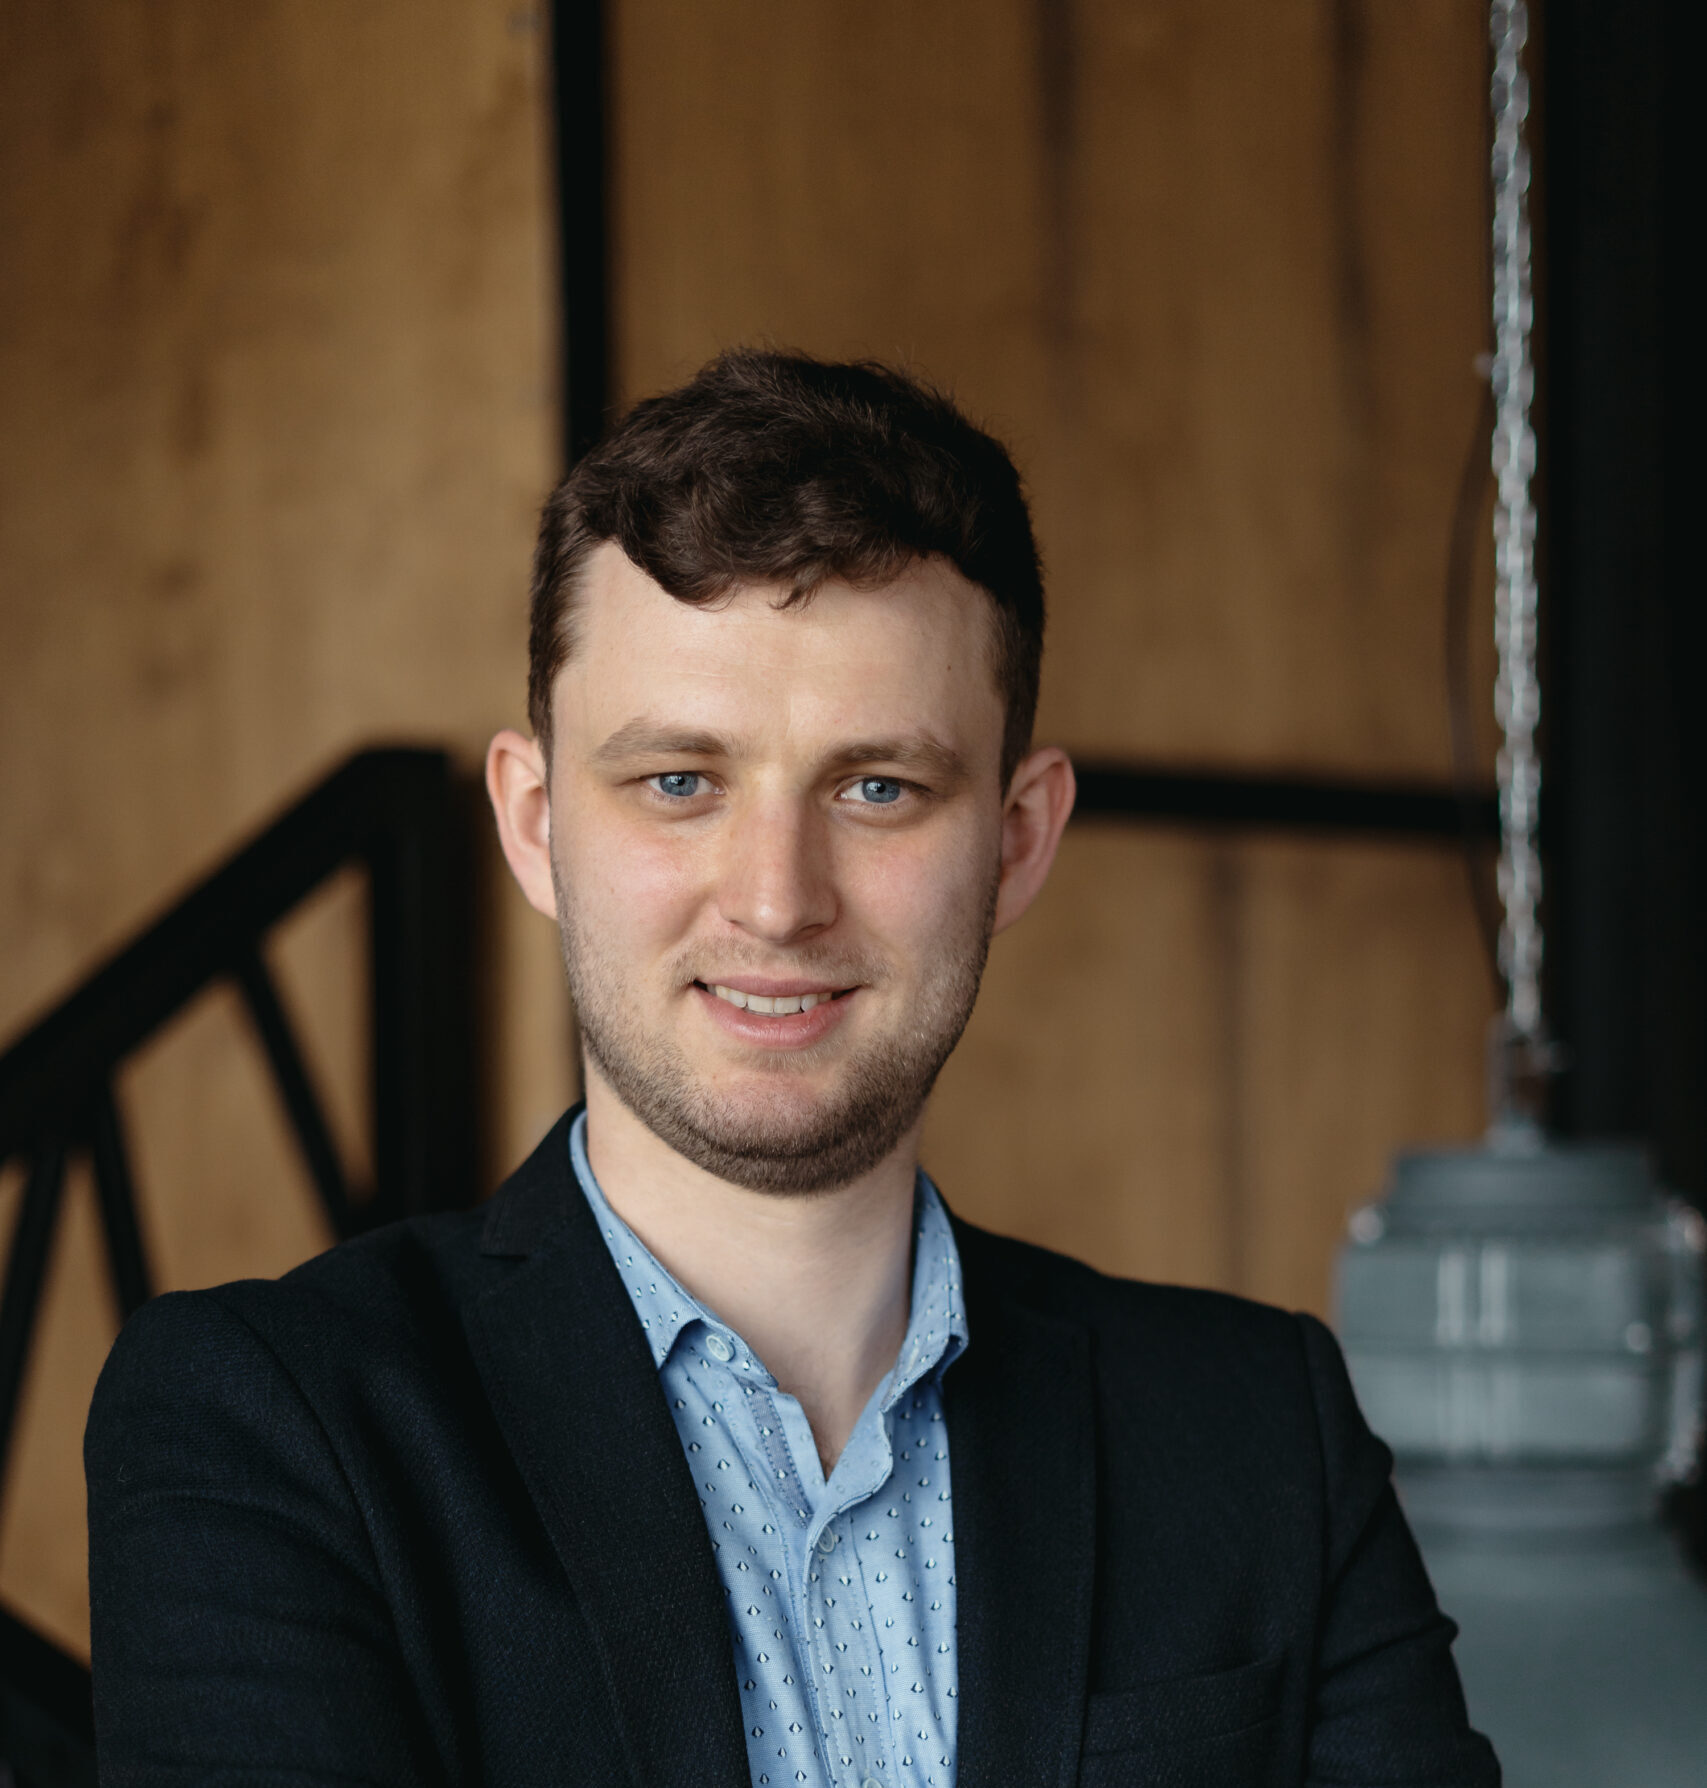
M 1535 849 L 1541 760 L 1535 722 L 1541 685 L 1535 676 L 1535 429 L 1530 399 L 1530 157 L 1523 139 L 1528 79 L 1523 45 L 1528 14 L 1523 0 L 1493 0 L 1493 195 L 1494 195 L 1494 638 L 1500 674 L 1494 713 L 1500 721 L 1500 967 L 1507 985 L 1507 1021 L 1519 1037 L 1541 1035 L 1541 855 Z

